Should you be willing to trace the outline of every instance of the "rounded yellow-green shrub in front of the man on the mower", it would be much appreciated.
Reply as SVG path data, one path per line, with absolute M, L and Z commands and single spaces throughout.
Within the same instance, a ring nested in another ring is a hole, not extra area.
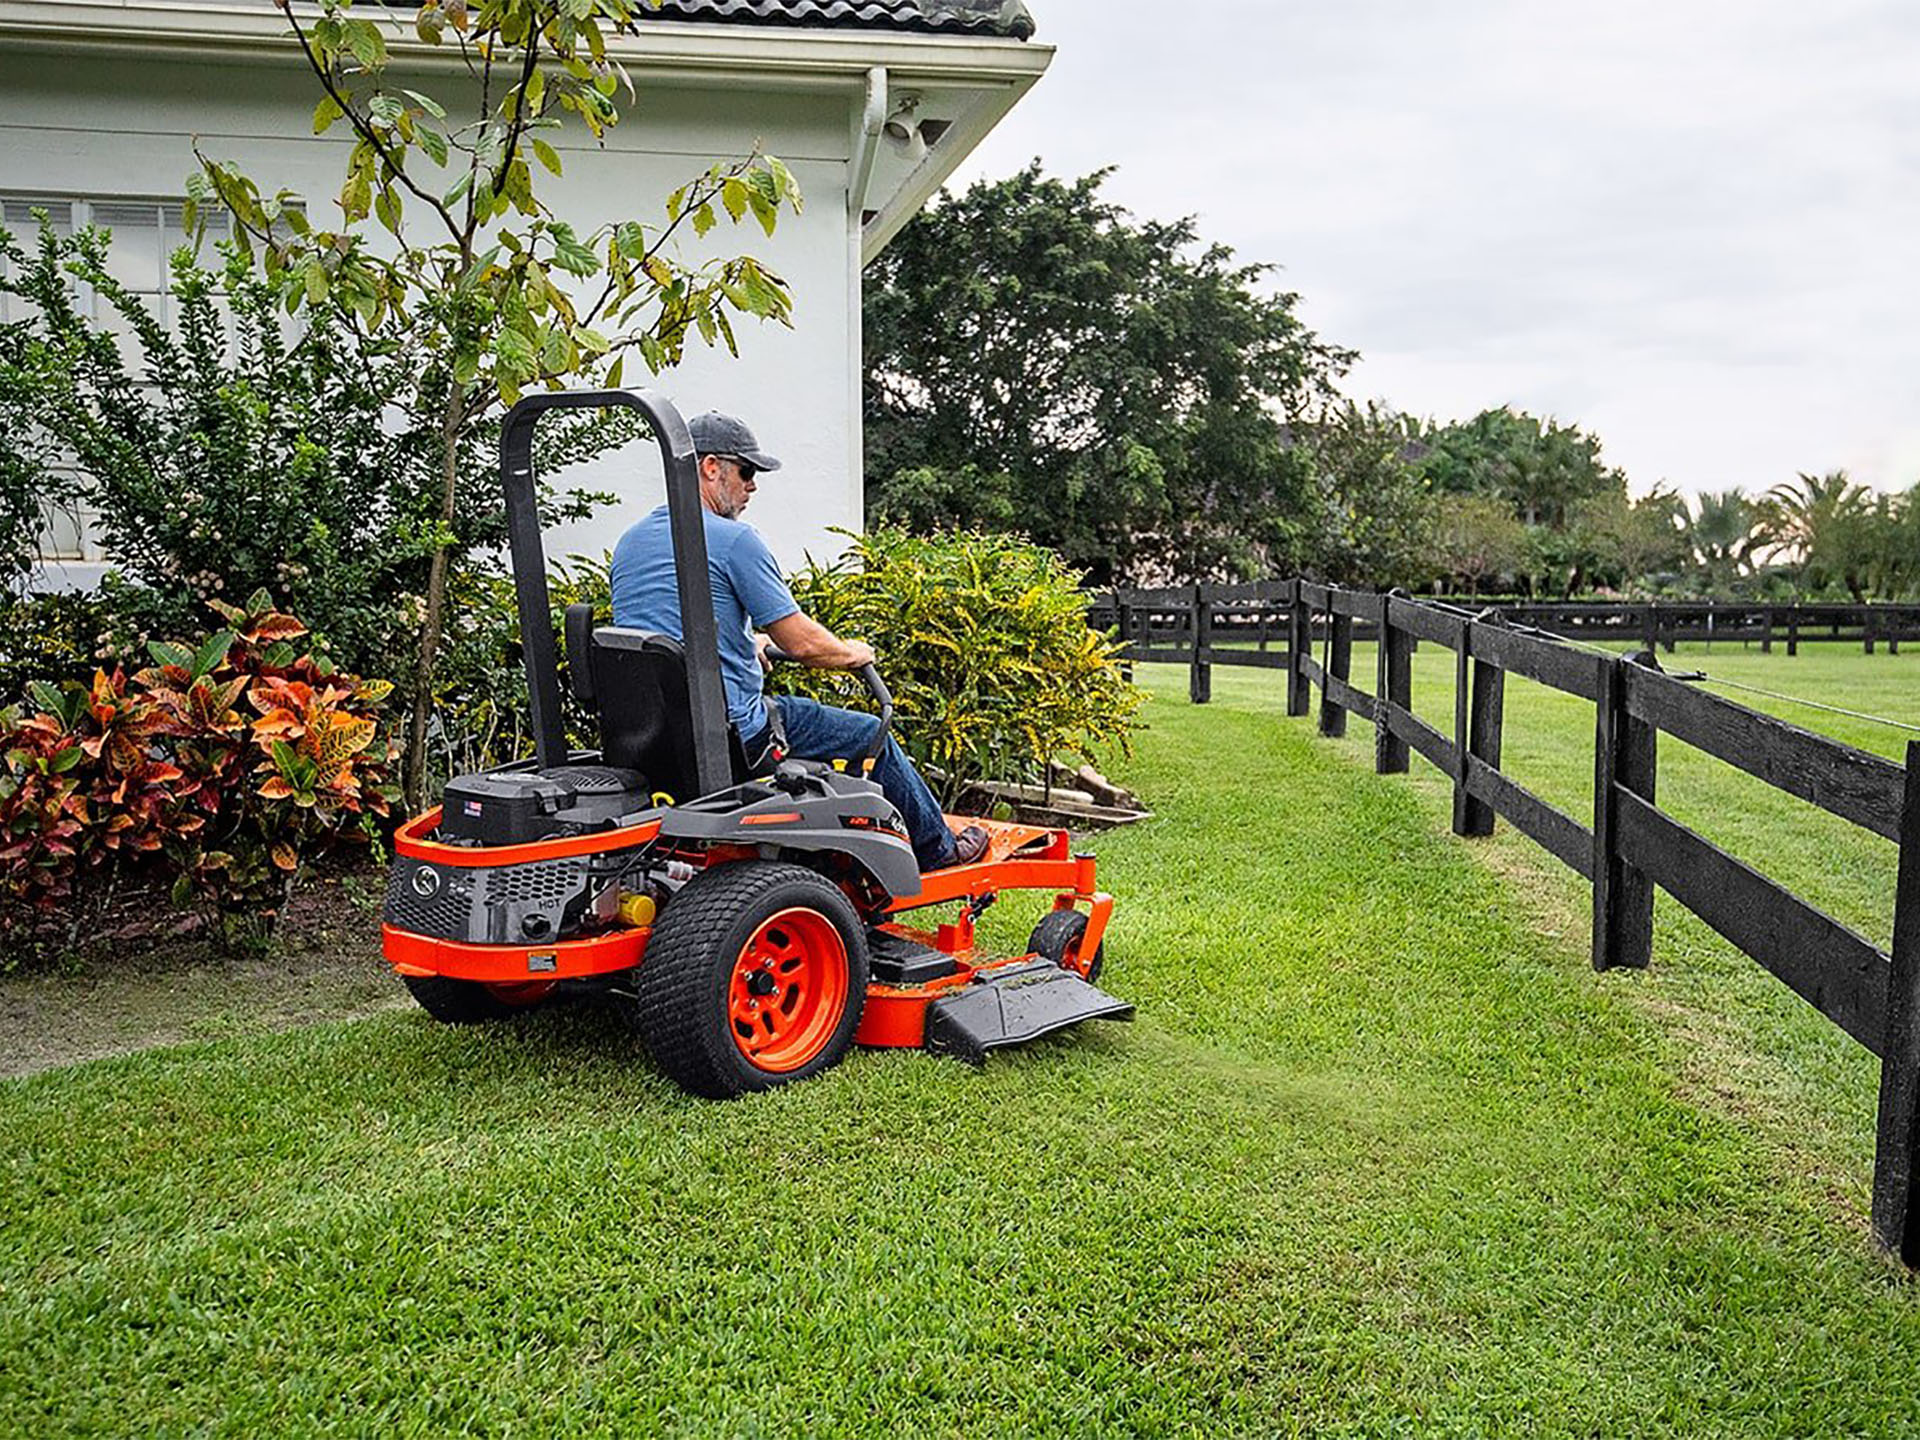
M 1114 645 L 1087 626 L 1089 595 L 1060 557 L 1021 540 L 874 530 L 831 564 L 793 578 L 801 607 L 879 653 L 900 743 L 954 801 L 977 780 L 1029 780 L 1058 751 L 1125 749 L 1140 693 Z M 780 670 L 783 685 L 837 705 L 849 676 Z

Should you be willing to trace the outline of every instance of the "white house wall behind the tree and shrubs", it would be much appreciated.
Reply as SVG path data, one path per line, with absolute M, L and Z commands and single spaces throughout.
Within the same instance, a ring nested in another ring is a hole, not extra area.
M 445 77 L 428 83 L 445 90 Z M 173 198 L 190 173 L 192 136 L 211 156 L 238 159 L 265 188 L 307 196 L 319 215 L 338 190 L 344 146 L 311 136 L 315 90 L 298 69 L 204 60 L 121 60 L 0 54 L 0 192 L 84 200 Z M 799 217 L 768 238 L 751 219 L 718 227 L 705 250 L 755 253 L 795 296 L 795 328 L 737 326 L 741 355 L 697 340 L 685 363 L 653 384 L 689 415 L 726 409 L 747 419 L 785 461 L 751 518 L 783 564 L 803 551 L 837 555 L 833 528 L 860 524 L 858 259 L 849 242 L 847 175 L 860 96 L 852 90 L 753 90 L 649 84 L 626 100 L 605 150 L 584 132 L 557 148 L 564 177 L 541 175 L 541 194 L 576 228 L 662 217 L 668 190 L 712 159 L 756 142 L 793 169 L 806 194 Z M 687 234 L 687 257 L 701 246 Z M 641 376 L 628 369 L 628 382 Z M 549 538 L 549 553 L 597 553 L 660 499 L 651 447 L 584 467 L 580 484 L 620 505 Z

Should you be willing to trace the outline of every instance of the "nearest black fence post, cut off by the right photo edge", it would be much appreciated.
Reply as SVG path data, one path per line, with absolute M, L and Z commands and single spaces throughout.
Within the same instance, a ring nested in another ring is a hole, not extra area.
M 1880 1043 L 1874 1238 L 1907 1265 L 1920 1265 L 1920 741 L 1907 745 L 1895 895 L 1893 973 Z

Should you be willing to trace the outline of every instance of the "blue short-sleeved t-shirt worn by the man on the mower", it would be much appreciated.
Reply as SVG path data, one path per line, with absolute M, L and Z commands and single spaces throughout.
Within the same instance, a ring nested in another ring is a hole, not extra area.
M 726 682 L 726 716 L 743 741 L 766 728 L 760 701 L 760 659 L 753 632 L 799 612 L 793 591 L 774 564 L 760 532 L 745 520 L 726 520 L 701 509 L 707 520 L 707 576 L 714 589 L 714 622 L 720 630 L 720 676 Z M 662 505 L 636 524 L 612 551 L 612 622 L 685 639 L 680 628 L 680 582 L 674 570 L 674 536 Z

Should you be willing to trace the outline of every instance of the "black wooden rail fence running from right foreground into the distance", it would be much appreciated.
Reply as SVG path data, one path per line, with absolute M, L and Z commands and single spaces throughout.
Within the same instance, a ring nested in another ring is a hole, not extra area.
M 1453 781 L 1453 833 L 1490 835 L 1503 818 L 1592 883 L 1596 970 L 1649 964 L 1659 885 L 1880 1056 L 1874 1236 L 1920 1267 L 1920 743 L 1903 768 L 1667 676 L 1651 647 L 1597 655 L 1517 630 L 1532 620 L 1513 611 L 1279 580 L 1117 591 L 1106 614 L 1125 660 L 1185 664 L 1196 705 L 1212 699 L 1217 664 L 1281 670 L 1286 714 L 1308 714 L 1317 689 L 1321 733 L 1346 733 L 1350 714 L 1375 726 L 1380 774 L 1425 756 Z M 1371 691 L 1352 674 L 1361 628 L 1379 639 Z M 1452 733 L 1413 714 L 1419 641 L 1455 657 Z M 1501 772 L 1509 674 L 1594 705 L 1592 828 Z M 1661 810 L 1663 733 L 1899 845 L 1891 950 Z

